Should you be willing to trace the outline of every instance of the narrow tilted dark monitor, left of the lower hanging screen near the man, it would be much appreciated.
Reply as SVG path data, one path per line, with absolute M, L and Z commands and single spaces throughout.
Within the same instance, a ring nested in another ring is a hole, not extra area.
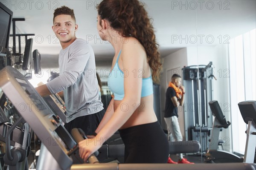
M 33 44 L 32 38 L 26 40 L 24 56 L 23 56 L 23 63 L 22 63 L 23 70 L 29 69 L 30 62 L 31 62 L 31 56 L 32 56 L 32 44 Z

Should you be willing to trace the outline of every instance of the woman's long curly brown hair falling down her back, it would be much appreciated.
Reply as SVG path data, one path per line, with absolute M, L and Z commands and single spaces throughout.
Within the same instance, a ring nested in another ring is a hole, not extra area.
M 138 0 L 103 0 L 98 6 L 101 19 L 108 20 L 111 27 L 123 37 L 134 37 L 145 48 L 152 78 L 158 82 L 162 63 L 157 51 L 154 27 L 148 13 Z

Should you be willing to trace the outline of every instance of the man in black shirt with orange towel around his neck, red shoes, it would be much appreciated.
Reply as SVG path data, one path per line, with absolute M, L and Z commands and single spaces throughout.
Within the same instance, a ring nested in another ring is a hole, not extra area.
M 182 135 L 180 132 L 180 125 L 178 122 L 178 107 L 184 104 L 185 88 L 181 85 L 181 77 L 178 74 L 172 75 L 172 80 L 169 83 L 169 87 L 166 90 L 166 106 L 164 120 L 168 129 L 168 140 L 169 141 L 182 141 Z M 168 163 L 183 163 L 193 164 L 183 158 L 182 153 L 177 154 L 179 156 L 178 162 L 168 159 Z

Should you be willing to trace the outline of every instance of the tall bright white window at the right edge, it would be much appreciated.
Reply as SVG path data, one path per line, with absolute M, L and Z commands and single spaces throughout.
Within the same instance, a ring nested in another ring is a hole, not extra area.
M 256 29 L 230 40 L 230 101 L 233 152 L 244 154 L 247 125 L 238 103 L 256 100 Z

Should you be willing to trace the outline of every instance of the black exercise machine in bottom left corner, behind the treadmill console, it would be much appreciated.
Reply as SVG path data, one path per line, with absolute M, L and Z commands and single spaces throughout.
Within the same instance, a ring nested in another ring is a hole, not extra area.
M 30 153 L 31 133 L 29 124 L 23 117 L 12 125 L 8 122 L 2 108 L 0 108 L 0 136 L 1 141 L 6 143 L 6 153 L 4 154 L 4 170 L 28 170 L 28 159 Z M 23 128 L 17 127 L 23 124 Z

